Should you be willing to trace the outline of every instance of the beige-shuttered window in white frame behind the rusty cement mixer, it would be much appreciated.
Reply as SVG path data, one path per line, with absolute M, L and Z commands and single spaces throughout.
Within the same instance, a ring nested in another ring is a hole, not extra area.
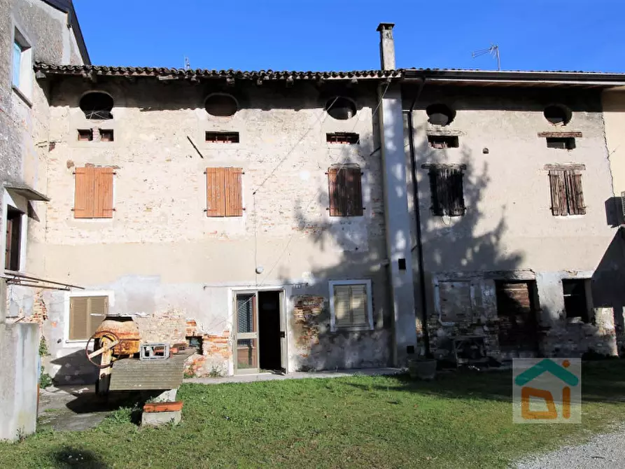
M 104 321 L 113 303 L 110 290 L 71 291 L 65 296 L 65 343 L 82 346 Z

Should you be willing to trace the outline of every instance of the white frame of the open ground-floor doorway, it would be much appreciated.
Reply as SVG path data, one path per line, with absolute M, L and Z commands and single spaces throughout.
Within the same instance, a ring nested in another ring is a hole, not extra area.
M 230 318 L 232 318 L 232 371 L 234 374 L 246 374 L 246 371 L 237 370 L 237 315 L 236 315 L 236 300 L 237 295 L 239 294 L 256 294 L 256 318 L 257 318 L 257 326 L 260 324 L 260 318 L 258 318 L 258 292 L 260 291 L 278 291 L 279 292 L 279 312 L 280 312 L 280 355 L 281 355 L 281 367 L 283 374 L 288 374 L 288 320 L 287 320 L 287 311 L 289 311 L 290 300 L 289 286 L 285 285 L 263 285 L 263 286 L 241 286 L 241 287 L 232 287 L 228 289 L 228 297 L 229 297 L 229 309 L 230 309 Z M 258 365 L 260 367 L 260 340 L 257 339 L 257 348 L 258 348 Z M 260 368 L 253 368 L 251 371 L 247 372 L 248 374 L 258 373 L 260 372 Z

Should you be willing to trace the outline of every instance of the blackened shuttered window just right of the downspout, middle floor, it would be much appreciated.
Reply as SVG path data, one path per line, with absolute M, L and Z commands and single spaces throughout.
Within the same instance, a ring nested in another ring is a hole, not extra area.
M 430 192 L 432 214 L 437 216 L 463 216 L 465 199 L 463 167 L 430 165 Z

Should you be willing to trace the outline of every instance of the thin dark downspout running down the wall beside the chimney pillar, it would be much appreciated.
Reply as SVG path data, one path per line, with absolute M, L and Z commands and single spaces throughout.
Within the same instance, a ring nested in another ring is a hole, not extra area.
M 423 240 L 421 239 L 421 209 L 419 205 L 419 187 L 416 182 L 416 158 L 414 155 L 414 125 L 412 124 L 412 111 L 417 100 L 421 96 L 423 86 L 426 85 L 426 78 L 421 78 L 421 85 L 412 100 L 408 111 L 408 144 L 410 151 L 410 171 L 412 174 L 412 194 L 414 197 L 414 220 L 416 225 L 416 259 L 419 265 L 419 296 L 421 297 L 421 316 L 423 325 L 423 342 L 426 345 L 426 357 L 430 356 L 430 332 L 428 329 L 428 301 L 426 299 L 426 277 L 423 271 Z

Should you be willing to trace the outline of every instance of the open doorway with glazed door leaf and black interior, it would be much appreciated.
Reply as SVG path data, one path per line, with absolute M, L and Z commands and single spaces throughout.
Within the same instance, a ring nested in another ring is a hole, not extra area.
M 234 295 L 237 373 L 286 371 L 282 298 L 282 290 L 241 291 Z

